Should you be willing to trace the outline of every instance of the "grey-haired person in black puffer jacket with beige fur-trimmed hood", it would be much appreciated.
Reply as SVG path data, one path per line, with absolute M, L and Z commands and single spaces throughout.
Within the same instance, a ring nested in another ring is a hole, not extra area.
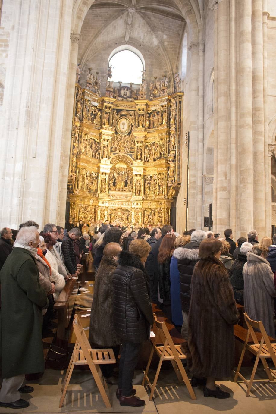
M 180 298 L 183 315 L 181 335 L 188 339 L 188 314 L 190 308 L 190 285 L 194 265 L 199 261 L 199 245 L 206 238 L 205 231 L 195 230 L 192 233 L 190 243 L 184 247 L 175 249 L 173 255 L 178 260 L 178 271 L 180 274 Z

